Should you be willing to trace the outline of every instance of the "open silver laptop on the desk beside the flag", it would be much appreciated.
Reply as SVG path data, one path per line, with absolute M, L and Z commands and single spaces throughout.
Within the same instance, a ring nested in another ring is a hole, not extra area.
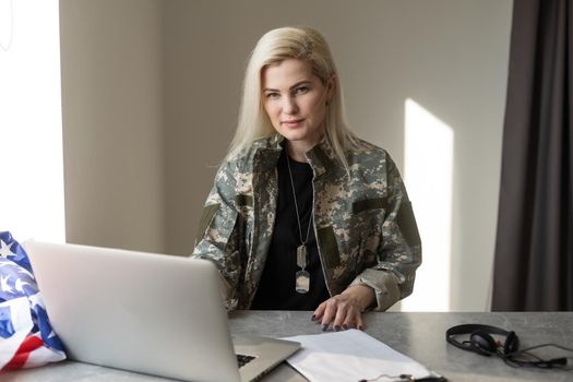
M 24 243 L 70 359 L 184 381 L 251 381 L 300 345 L 237 337 L 215 265 L 117 249 Z M 237 354 L 254 357 L 238 366 Z

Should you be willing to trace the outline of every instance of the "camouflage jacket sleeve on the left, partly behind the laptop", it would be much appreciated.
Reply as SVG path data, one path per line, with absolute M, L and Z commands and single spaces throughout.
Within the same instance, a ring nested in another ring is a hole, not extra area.
M 192 256 L 215 263 L 222 275 L 222 293 L 227 309 L 235 309 L 241 274 L 240 219 L 236 196 L 235 162 L 218 169 L 199 224 Z

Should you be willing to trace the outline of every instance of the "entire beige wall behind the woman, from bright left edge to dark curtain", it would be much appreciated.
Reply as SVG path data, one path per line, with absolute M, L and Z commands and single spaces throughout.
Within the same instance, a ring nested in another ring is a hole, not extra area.
M 72 236 L 79 241 L 153 249 L 162 242 L 160 234 L 151 246 L 148 232 L 163 228 L 166 252 L 190 253 L 215 166 L 235 129 L 248 53 L 256 39 L 273 27 L 311 25 L 331 44 L 350 124 L 362 138 L 385 147 L 403 172 L 407 159 L 407 99 L 452 130 L 450 253 L 425 253 L 427 264 L 446 261 L 451 272 L 441 276 L 422 265 L 420 283 L 423 278 L 432 283 L 432 278 L 446 277 L 450 310 L 487 308 L 511 0 L 134 3 L 61 2 L 67 9 L 61 12 L 67 19 L 62 20 L 62 31 L 68 25 L 68 37 L 62 35 L 62 57 L 68 60 L 62 65 L 65 131 L 82 121 L 82 130 L 73 141 L 71 133 L 64 136 L 67 160 L 70 154 L 82 158 L 74 165 L 67 163 L 69 236 L 74 229 Z M 153 22 L 147 25 L 145 20 Z M 83 32 L 86 25 L 91 25 L 88 34 Z M 79 34 L 84 40 L 77 38 Z M 134 35 L 144 36 L 140 55 L 128 49 Z M 158 67 L 160 80 L 154 75 Z M 134 82 L 145 87 L 136 88 Z M 157 87 L 162 91 L 156 92 Z M 148 122 L 157 121 L 158 115 L 163 123 Z M 72 117 L 76 122 L 67 119 Z M 93 132 L 103 126 L 104 130 Z M 121 135 L 118 145 L 132 156 L 130 166 L 123 163 L 128 154 L 98 154 L 110 144 L 110 133 Z M 140 135 L 143 145 L 133 145 L 130 138 Z M 83 158 L 86 150 L 89 159 Z M 151 155 L 143 155 L 144 151 Z M 68 177 L 68 166 L 81 177 Z M 105 179 L 106 167 L 117 170 L 112 191 L 94 186 Z M 138 178 L 135 187 L 122 179 L 141 172 L 148 174 L 148 178 Z M 72 184 L 70 179 L 74 179 Z M 145 187 L 153 190 L 153 198 L 141 203 L 138 199 Z M 421 198 L 423 194 L 413 201 L 415 211 L 420 203 L 432 203 Z M 114 203 L 102 203 L 110 199 Z M 92 200 L 98 201 L 97 210 L 85 211 Z M 130 210 L 135 205 L 145 205 L 147 213 L 140 211 L 136 218 L 131 218 Z M 162 212 L 163 226 L 153 222 Z M 431 216 L 426 222 L 431 224 Z M 420 229 L 422 238 L 429 235 L 423 227 Z M 108 240 L 109 235 L 114 240 Z M 417 285 L 420 287 L 423 283 Z M 441 307 L 434 305 L 434 309 Z M 420 309 L 432 310 L 432 302 Z

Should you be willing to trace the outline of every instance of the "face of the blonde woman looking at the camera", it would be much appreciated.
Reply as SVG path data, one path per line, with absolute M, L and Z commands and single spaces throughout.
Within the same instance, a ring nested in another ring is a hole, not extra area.
M 309 148 L 319 143 L 334 77 L 324 86 L 310 63 L 287 59 L 264 69 L 262 85 L 263 107 L 275 130 Z

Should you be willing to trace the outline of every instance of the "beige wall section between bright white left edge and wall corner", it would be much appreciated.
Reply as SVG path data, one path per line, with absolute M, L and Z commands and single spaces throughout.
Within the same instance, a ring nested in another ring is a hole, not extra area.
M 162 9 L 60 1 L 68 241 L 164 250 Z

